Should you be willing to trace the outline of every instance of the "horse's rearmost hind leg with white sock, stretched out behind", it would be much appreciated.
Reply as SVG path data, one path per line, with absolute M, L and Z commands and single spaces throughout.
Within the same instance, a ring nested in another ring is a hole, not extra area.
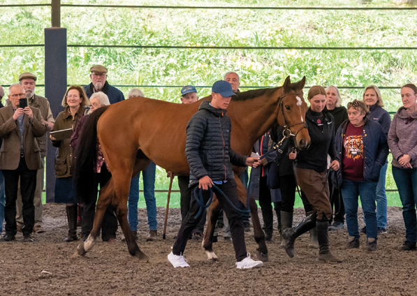
M 93 246 L 96 244 L 97 237 L 98 235 L 100 235 L 100 229 L 101 224 L 103 223 L 105 210 L 112 202 L 112 197 L 114 194 L 114 184 L 112 182 L 112 179 L 110 179 L 110 181 L 107 184 L 105 184 L 103 188 L 100 189 L 96 205 L 96 212 L 94 214 L 93 229 L 90 232 L 87 239 L 85 240 L 85 242 L 83 241 L 78 245 L 78 255 L 85 256 L 85 254 L 89 252 L 91 249 L 93 249 Z

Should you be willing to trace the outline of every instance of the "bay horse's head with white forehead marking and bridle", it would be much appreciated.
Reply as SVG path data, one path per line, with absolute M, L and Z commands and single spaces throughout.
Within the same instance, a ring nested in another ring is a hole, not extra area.
M 307 103 L 302 96 L 304 86 L 305 77 L 295 83 L 291 83 L 289 76 L 286 77 L 278 104 L 278 123 L 284 126 L 286 135 L 295 138 L 295 145 L 300 150 L 307 149 L 311 142 L 305 122 Z

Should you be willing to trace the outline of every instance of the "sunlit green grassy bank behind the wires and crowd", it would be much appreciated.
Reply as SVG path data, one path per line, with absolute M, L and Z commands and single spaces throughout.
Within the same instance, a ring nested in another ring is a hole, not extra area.
M 366 7 L 397 7 L 374 0 Z M 50 0 L 3 0 L 2 4 L 50 3 Z M 61 0 L 63 4 L 120 4 L 117 0 Z M 124 0 L 125 5 L 364 7 L 357 0 Z M 2 8 L 0 45 L 43 44 L 50 27 L 50 7 Z M 200 97 L 227 71 L 236 71 L 242 87 L 277 87 L 290 75 L 307 77 L 307 86 L 400 87 L 417 81 L 414 47 L 415 10 L 254 10 L 61 7 L 61 27 L 68 45 L 184 45 L 184 49 L 68 47 L 68 84 L 89 83 L 89 68 L 103 64 L 114 85 L 143 85 L 145 96 L 179 102 L 180 87 L 193 84 Z M 201 49 L 202 46 L 289 47 L 274 50 Z M 350 47 L 354 50 L 297 50 L 292 47 Z M 366 50 L 357 50 L 367 47 Z M 292 48 L 292 49 L 291 49 Z M 356 50 L 355 50 L 356 49 Z M 0 84 L 17 82 L 31 71 L 44 83 L 43 47 L 0 47 Z M 120 87 L 124 94 L 131 87 Z M 242 90 L 247 90 L 242 88 Z M 36 92 L 44 94 L 43 87 Z M 398 89 L 382 89 L 386 110 L 401 105 Z M 361 98 L 362 89 L 342 89 L 342 104 Z M 61 98 L 48 98 L 50 101 Z M 167 189 L 161 168 L 156 188 Z M 386 187 L 395 189 L 388 168 Z M 157 194 L 158 205 L 166 204 Z M 388 205 L 398 205 L 390 194 Z M 178 206 L 173 194 L 172 206 Z M 141 206 L 144 202 L 141 201 Z M 297 205 L 300 205 L 298 203 Z

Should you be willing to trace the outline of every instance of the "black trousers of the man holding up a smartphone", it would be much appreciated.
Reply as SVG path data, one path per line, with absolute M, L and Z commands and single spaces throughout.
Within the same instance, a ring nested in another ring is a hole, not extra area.
M 2 170 L 4 177 L 4 191 L 6 206 L 4 207 L 4 220 L 6 221 L 6 233 L 16 235 L 16 200 L 17 187 L 20 177 L 20 193 L 22 194 L 23 235 L 29 235 L 34 230 L 35 206 L 34 197 L 36 190 L 36 174 L 38 170 L 29 170 L 24 157 L 20 158 L 16 170 Z

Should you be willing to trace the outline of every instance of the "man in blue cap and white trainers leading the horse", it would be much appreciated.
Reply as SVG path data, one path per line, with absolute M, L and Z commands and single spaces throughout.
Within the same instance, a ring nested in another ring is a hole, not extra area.
M 168 255 L 168 260 L 174 267 L 189 267 L 183 254 L 187 239 L 198 224 L 195 216 L 200 208 L 194 189 L 198 186 L 203 190 L 203 202 L 207 203 L 210 199 L 208 189 L 213 184 L 216 184 L 235 206 L 232 207 L 222 195 L 217 194 L 217 199 L 231 225 L 236 267 L 247 269 L 263 265 L 262 261 L 252 260 L 246 251 L 242 216 L 236 209 L 239 207 L 239 199 L 233 165 L 256 167 L 259 163 L 256 158 L 237 154 L 231 149 L 231 119 L 226 116 L 226 109 L 232 96 L 235 96 L 235 93 L 229 82 L 215 82 L 212 86 L 212 101 L 203 101 L 198 112 L 191 117 L 186 126 L 185 155 L 190 166 L 189 187 L 193 196 L 190 212 L 182 221 L 173 251 Z

